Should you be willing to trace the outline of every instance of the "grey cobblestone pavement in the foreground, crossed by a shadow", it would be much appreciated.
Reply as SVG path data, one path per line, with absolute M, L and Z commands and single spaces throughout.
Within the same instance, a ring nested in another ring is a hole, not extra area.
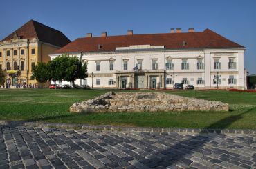
M 0 168 L 256 168 L 256 135 L 0 126 Z

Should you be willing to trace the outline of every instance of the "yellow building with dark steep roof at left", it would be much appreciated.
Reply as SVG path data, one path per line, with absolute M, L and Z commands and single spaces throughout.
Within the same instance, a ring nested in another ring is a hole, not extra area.
M 66 46 L 70 40 L 59 30 L 30 20 L 0 41 L 0 69 L 7 70 L 10 87 L 35 86 L 33 67 L 50 61 L 48 54 Z M 31 84 L 31 85 L 30 85 Z

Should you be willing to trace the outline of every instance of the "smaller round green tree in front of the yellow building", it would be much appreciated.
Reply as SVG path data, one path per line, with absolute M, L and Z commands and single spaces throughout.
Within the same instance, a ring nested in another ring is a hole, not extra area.
M 48 80 L 51 80 L 51 74 L 49 71 L 49 66 L 46 63 L 38 63 L 37 66 L 33 69 L 33 76 L 39 83 L 45 83 Z

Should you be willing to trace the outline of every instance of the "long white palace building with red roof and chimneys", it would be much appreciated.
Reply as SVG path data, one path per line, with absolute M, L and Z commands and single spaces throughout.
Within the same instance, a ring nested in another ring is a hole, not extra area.
M 197 89 L 244 89 L 245 47 L 206 29 L 164 34 L 133 34 L 78 38 L 50 54 L 68 53 L 88 66 L 88 77 L 76 84 L 93 88 L 173 88 L 174 83 Z M 67 81 L 59 82 L 61 85 Z

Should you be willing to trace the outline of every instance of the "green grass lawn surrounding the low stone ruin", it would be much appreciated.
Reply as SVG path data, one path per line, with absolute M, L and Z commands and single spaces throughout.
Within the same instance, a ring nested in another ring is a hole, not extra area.
M 256 129 L 256 93 L 250 92 L 167 91 L 186 97 L 229 103 L 229 112 L 135 112 L 90 115 L 72 115 L 68 112 L 71 104 L 94 98 L 107 91 L 0 90 L 0 119 L 148 127 Z

